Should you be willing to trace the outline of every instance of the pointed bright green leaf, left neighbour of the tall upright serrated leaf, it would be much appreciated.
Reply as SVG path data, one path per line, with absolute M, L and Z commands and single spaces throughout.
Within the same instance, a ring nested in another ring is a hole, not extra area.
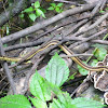
M 51 90 L 46 81 L 37 71 L 30 82 L 30 92 L 33 96 L 43 102 L 51 99 Z

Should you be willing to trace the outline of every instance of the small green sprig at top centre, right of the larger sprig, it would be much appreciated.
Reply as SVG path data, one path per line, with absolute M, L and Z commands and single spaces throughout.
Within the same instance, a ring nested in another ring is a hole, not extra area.
M 51 6 L 48 10 L 54 10 L 56 13 L 62 13 L 63 12 L 63 3 L 51 3 Z

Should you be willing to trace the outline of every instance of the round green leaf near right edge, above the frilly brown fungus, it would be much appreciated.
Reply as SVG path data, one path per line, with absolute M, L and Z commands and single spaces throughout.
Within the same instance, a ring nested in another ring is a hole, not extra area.
M 96 52 L 94 53 L 94 56 L 98 59 L 98 60 L 103 60 L 105 58 L 107 54 L 107 50 L 104 48 L 97 48 Z

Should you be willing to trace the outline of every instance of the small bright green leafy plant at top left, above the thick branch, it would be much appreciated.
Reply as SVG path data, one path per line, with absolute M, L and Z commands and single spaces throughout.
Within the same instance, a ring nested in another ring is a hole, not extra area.
M 42 15 L 42 17 L 45 18 L 44 12 L 45 12 L 45 10 L 43 10 L 40 6 L 40 2 L 36 1 L 35 3 L 31 4 L 30 8 L 26 9 L 22 12 L 21 17 L 24 18 L 25 13 L 27 13 L 29 15 L 29 18 L 35 22 L 36 18 L 41 15 Z

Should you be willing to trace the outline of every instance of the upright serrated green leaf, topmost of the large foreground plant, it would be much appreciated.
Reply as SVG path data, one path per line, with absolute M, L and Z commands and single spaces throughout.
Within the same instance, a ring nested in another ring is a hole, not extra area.
M 65 60 L 56 53 L 49 62 L 45 69 L 45 79 L 60 86 L 69 76 L 69 68 Z

